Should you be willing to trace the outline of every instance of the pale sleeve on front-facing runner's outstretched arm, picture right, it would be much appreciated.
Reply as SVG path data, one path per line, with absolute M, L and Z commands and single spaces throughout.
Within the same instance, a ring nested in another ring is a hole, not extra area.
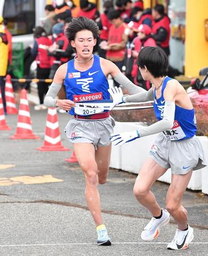
M 140 86 L 133 84 L 129 79 L 127 79 L 126 76 L 123 75 L 122 72 L 118 73 L 118 75 L 114 77 L 114 80 L 122 85 L 125 89 L 127 89 L 130 94 L 146 92 L 146 90 L 144 90 Z

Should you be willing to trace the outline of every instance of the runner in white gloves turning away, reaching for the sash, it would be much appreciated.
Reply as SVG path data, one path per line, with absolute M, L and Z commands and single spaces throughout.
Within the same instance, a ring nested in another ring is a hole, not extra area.
M 167 76 L 168 57 L 159 47 L 144 47 L 140 51 L 137 65 L 143 79 L 152 83 L 148 92 L 120 97 L 120 102 L 142 102 L 144 94 L 153 100 L 158 122 L 130 133 L 112 134 L 114 145 L 122 145 L 134 139 L 159 133 L 149 151 L 134 186 L 136 199 L 152 213 L 141 237 L 151 241 L 159 236 L 162 226 L 169 223 L 169 213 L 177 223 L 176 234 L 168 249 L 187 249 L 193 240 L 193 228 L 187 223 L 187 211 L 182 206 L 182 196 L 193 170 L 206 166 L 201 143 L 195 137 L 197 130 L 192 102 L 182 85 Z M 161 209 L 150 191 L 153 183 L 168 168 L 172 180 L 166 198 L 166 209 Z

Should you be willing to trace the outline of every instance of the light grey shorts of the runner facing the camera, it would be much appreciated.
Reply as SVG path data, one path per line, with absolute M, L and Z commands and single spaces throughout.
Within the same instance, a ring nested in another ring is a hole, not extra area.
M 111 143 L 110 134 L 114 126 L 115 121 L 111 116 L 99 120 L 72 118 L 64 131 L 70 142 L 93 143 L 97 150 L 97 146 L 108 146 Z

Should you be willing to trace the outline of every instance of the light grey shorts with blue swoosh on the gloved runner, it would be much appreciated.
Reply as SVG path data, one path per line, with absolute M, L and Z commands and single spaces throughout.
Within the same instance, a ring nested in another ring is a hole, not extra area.
M 187 174 L 206 166 L 205 155 L 199 139 L 193 136 L 182 141 L 169 141 L 159 134 L 149 151 L 149 156 L 172 174 Z

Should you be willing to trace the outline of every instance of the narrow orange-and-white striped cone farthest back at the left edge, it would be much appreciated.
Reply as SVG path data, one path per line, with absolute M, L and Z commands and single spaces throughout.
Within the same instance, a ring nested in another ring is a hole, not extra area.
M 13 85 L 11 84 L 11 76 L 6 76 L 5 83 L 5 99 L 6 99 L 6 112 L 7 114 L 17 114 L 18 110 L 16 109 L 14 101 L 14 90 Z

